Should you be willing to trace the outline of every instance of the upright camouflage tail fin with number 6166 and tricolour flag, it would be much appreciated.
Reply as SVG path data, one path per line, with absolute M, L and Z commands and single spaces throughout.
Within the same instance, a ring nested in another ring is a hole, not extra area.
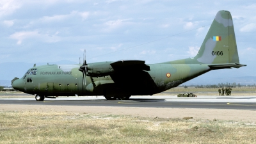
M 217 13 L 194 60 L 205 64 L 239 63 L 230 12 L 221 10 Z

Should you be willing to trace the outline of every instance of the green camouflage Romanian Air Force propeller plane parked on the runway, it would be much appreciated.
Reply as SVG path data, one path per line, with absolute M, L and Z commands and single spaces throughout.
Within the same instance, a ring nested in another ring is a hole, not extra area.
M 230 12 L 216 14 L 195 58 L 145 64 L 140 60 L 43 65 L 29 68 L 13 88 L 33 94 L 38 101 L 54 96 L 104 95 L 107 100 L 127 100 L 131 95 L 154 95 L 179 86 L 210 70 L 239 68 Z

